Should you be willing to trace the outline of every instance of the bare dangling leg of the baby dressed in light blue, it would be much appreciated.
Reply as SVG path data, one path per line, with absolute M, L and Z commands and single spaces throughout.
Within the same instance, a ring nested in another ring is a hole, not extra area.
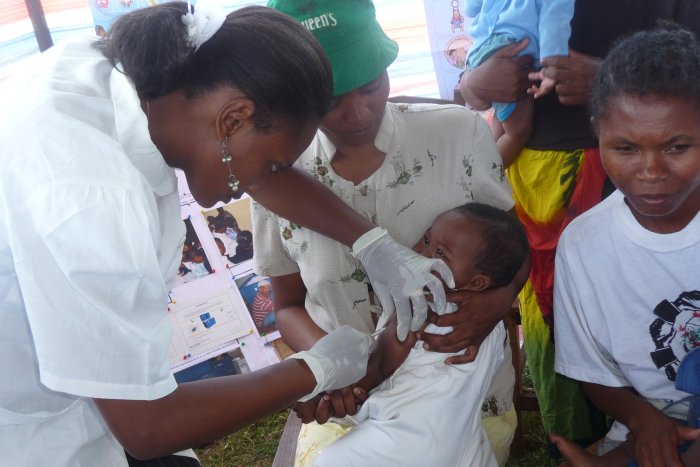
M 507 168 L 523 148 L 532 134 L 532 97 L 519 100 L 513 112 L 502 122 L 494 116 L 491 132 L 496 138 L 498 151 L 501 153 L 503 167 Z

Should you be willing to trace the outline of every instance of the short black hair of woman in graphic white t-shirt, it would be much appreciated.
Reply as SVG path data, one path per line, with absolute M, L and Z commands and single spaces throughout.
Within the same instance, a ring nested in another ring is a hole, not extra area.
M 700 107 L 700 46 L 695 35 L 670 21 L 623 38 L 593 81 L 591 117 L 598 120 L 621 95 L 688 98 Z

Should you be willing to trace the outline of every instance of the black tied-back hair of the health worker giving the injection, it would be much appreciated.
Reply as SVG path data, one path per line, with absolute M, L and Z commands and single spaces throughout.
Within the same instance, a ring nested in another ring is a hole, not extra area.
M 298 21 L 272 8 L 244 7 L 229 13 L 195 51 L 182 22 L 187 8 L 169 2 L 133 11 L 96 44 L 142 99 L 178 90 L 192 98 L 231 86 L 255 103 L 253 122 L 261 130 L 271 129 L 277 119 L 301 125 L 328 113 L 331 67 Z

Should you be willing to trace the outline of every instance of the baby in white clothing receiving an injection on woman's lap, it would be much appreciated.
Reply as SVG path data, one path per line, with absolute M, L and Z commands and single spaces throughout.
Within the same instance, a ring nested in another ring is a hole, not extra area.
M 528 243 L 514 216 L 468 203 L 439 215 L 414 250 L 442 259 L 459 289 L 479 293 L 511 282 L 528 255 Z M 482 343 L 474 362 L 453 366 L 444 363 L 443 354 L 424 350 L 415 336 L 398 341 L 395 320 L 381 323 L 380 331 L 389 332 L 380 333 L 367 375 L 357 383 L 364 390 L 379 386 L 353 417 L 356 426 L 323 448 L 313 465 L 497 465 L 480 408 L 503 361 L 503 325 Z M 449 328 L 430 324 L 426 331 Z M 324 419 L 334 413 L 330 401 L 325 395 L 295 409 L 303 421 Z

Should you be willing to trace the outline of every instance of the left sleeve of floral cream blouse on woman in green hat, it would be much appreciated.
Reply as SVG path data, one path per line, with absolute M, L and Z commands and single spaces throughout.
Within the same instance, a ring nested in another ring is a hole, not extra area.
M 282 242 L 277 214 L 253 201 L 253 269 L 267 277 L 299 272 L 299 266 L 287 254 Z

